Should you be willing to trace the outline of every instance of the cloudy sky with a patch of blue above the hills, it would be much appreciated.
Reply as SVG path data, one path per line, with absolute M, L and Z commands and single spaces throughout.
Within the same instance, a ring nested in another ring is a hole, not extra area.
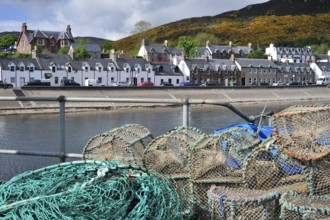
M 129 36 L 134 24 L 152 27 L 184 18 L 213 16 L 268 0 L 0 0 L 0 32 L 28 29 L 65 31 L 73 36 L 118 40 Z

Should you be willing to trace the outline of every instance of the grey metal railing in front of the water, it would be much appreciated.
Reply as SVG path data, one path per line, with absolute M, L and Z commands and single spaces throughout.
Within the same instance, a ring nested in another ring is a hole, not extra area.
M 234 106 L 228 102 L 220 102 L 214 99 L 141 99 L 141 98 L 89 98 L 89 97 L 1 97 L 1 101 L 51 101 L 59 102 L 60 112 L 60 152 L 42 152 L 42 151 L 25 151 L 25 150 L 8 150 L 0 149 L 0 154 L 11 155 L 32 155 L 32 156 L 45 156 L 45 157 L 59 157 L 61 162 L 64 162 L 66 158 L 82 158 L 82 154 L 67 153 L 65 149 L 65 103 L 66 102 L 109 102 L 109 103 L 144 103 L 144 104 L 168 104 L 168 105 L 180 105 L 182 106 L 183 126 L 189 126 L 189 106 L 197 104 L 207 104 L 226 107 L 239 117 L 249 123 L 255 123 L 257 120 L 264 119 L 272 114 L 261 113 L 258 116 L 246 116 Z

